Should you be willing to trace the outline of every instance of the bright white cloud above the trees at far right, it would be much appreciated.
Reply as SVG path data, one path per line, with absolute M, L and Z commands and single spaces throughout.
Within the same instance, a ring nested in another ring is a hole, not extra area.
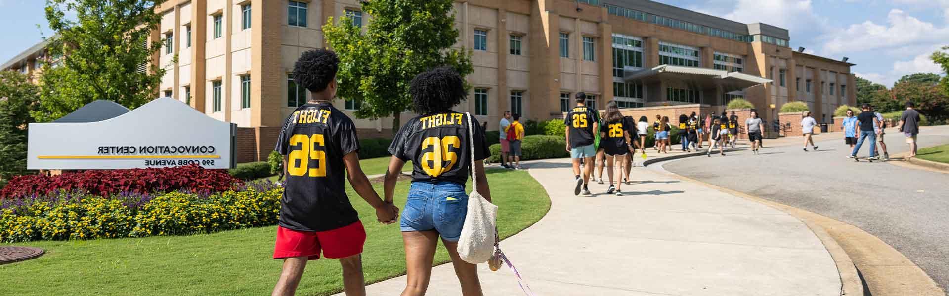
M 949 28 L 937 28 L 932 23 L 923 22 L 900 9 L 892 9 L 886 15 L 886 25 L 870 21 L 853 24 L 846 29 L 828 32 L 829 41 L 822 51 L 824 54 L 865 51 L 892 46 L 913 46 L 933 44 L 949 39 Z

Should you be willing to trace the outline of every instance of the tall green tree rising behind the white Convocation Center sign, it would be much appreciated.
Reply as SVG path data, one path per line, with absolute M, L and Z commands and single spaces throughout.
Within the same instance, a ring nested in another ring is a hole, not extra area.
M 48 57 L 40 79 L 39 121 L 59 119 L 96 100 L 136 108 L 158 94 L 165 70 L 151 65 L 161 42 L 149 45 L 158 28 L 159 0 L 47 0 L 46 15 L 56 34 L 48 38 Z M 75 11 L 75 20 L 65 17 Z M 147 46 L 146 46 L 147 45 Z M 150 71 L 139 71 L 149 65 Z

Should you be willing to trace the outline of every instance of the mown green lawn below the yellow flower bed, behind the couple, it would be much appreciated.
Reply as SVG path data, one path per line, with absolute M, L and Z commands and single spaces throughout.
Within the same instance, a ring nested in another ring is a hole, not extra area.
M 497 222 L 502 237 L 524 230 L 548 212 L 547 193 L 528 173 L 489 170 L 488 174 L 493 200 L 500 207 Z M 381 183 L 375 186 L 381 193 Z M 400 208 L 408 187 L 408 181 L 399 184 L 396 204 Z M 399 226 L 376 223 L 375 212 L 362 198 L 352 189 L 347 193 L 368 234 L 363 252 L 367 283 L 404 274 Z M 19 244 L 47 253 L 0 266 L 0 295 L 265 295 L 281 268 L 281 261 L 270 258 L 275 233 L 276 227 L 264 227 L 191 236 Z M 449 261 L 442 247 L 436 261 Z M 339 291 L 339 263 L 318 260 L 307 266 L 297 295 Z

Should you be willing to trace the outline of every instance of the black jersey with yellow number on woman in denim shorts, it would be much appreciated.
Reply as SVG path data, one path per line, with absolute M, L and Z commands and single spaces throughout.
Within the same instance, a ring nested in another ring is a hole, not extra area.
M 476 119 L 474 124 L 474 159 L 491 156 Z M 448 111 L 409 120 L 392 139 L 389 153 L 404 161 L 412 160 L 412 181 L 436 183 L 450 181 L 465 184 L 471 172 L 471 143 L 468 139 L 468 117 Z

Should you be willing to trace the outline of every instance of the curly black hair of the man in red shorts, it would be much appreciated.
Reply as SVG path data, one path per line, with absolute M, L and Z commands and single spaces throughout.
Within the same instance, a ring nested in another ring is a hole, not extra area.
M 336 78 L 340 58 L 329 49 L 307 50 L 293 65 L 293 81 L 309 91 L 320 92 Z

